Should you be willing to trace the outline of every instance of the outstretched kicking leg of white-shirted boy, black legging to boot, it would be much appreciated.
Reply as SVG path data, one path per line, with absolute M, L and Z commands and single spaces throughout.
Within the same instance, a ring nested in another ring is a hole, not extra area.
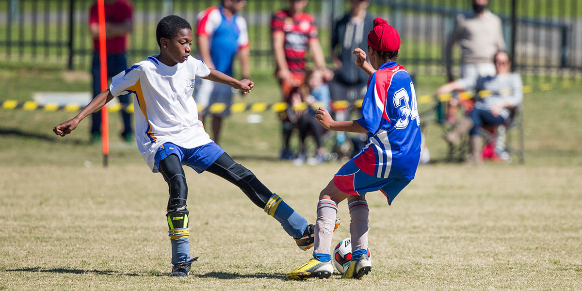
M 260 180 L 244 166 L 237 164 L 226 153 L 222 154 L 205 171 L 221 176 L 238 186 L 258 207 L 274 217 L 285 232 L 292 236 L 302 250 L 313 245 L 313 225 L 308 225 L 305 218 L 289 207 L 277 194 L 272 193 Z M 339 221 L 334 227 L 339 226 Z

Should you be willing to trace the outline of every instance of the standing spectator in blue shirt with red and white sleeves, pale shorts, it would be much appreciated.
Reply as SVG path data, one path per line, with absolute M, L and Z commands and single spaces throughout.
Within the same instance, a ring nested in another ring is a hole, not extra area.
M 222 0 L 220 6 L 204 10 L 198 14 L 196 40 L 201 59 L 209 68 L 215 68 L 228 76 L 233 76 L 232 62 L 238 56 L 242 78 L 250 79 L 249 31 L 244 17 L 238 15 L 246 5 L 246 0 Z M 196 91 L 196 102 L 204 111 L 200 120 L 212 115 L 212 139 L 219 142 L 222 120 L 230 115 L 232 88 L 226 84 L 201 79 Z M 212 104 L 225 104 L 222 112 L 209 112 Z

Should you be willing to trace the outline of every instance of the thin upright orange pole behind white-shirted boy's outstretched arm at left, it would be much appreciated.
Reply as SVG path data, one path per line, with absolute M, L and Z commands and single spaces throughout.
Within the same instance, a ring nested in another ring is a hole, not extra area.
M 99 60 L 101 63 L 101 92 L 107 90 L 107 45 L 105 45 L 105 3 L 97 1 L 97 16 L 99 19 Z M 101 108 L 101 138 L 103 151 L 103 166 L 107 167 L 109 156 L 109 115 L 107 104 Z

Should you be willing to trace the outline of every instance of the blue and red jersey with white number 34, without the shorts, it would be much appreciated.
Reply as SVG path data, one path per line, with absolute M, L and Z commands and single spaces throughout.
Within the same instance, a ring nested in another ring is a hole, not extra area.
M 368 80 L 358 123 L 368 141 L 354 162 L 378 178 L 412 180 L 420 159 L 420 118 L 414 85 L 403 66 L 384 63 Z

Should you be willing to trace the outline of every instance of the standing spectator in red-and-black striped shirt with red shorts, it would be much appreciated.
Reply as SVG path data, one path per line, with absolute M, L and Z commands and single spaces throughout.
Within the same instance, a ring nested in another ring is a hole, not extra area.
M 316 69 L 324 72 L 325 80 L 331 80 L 333 72 L 325 66 L 325 58 L 315 26 L 315 18 L 303 12 L 308 0 L 288 0 L 285 10 L 274 13 L 271 19 L 271 37 L 275 53 L 275 76 L 281 85 L 283 101 L 290 100 L 291 93 L 303 84 L 306 72 L 307 51 L 311 52 Z M 293 159 L 289 140 L 294 122 L 287 114 L 281 116 L 283 143 L 282 159 Z

